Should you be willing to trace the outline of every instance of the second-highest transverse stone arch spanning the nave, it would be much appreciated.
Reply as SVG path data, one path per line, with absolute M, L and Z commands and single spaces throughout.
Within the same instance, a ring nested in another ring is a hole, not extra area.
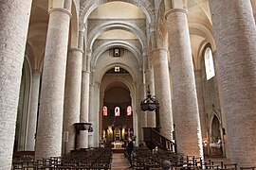
M 111 29 L 118 29 L 118 28 L 134 33 L 135 35 L 137 35 L 137 38 L 141 43 L 142 48 L 143 46 L 146 46 L 146 40 L 147 40 L 146 35 L 143 33 L 143 31 L 139 27 L 135 25 L 131 25 L 126 22 L 109 21 L 101 24 L 100 26 L 96 26 L 90 32 L 90 34 L 88 35 L 88 41 L 87 41 L 87 44 L 90 47 L 90 49 L 92 49 L 93 42 L 97 39 L 97 37 L 101 35 L 102 32 L 111 30 Z

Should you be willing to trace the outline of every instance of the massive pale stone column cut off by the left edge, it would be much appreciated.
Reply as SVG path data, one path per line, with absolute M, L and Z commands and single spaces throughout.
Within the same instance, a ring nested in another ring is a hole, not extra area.
M 0 3 L 0 167 L 10 169 L 31 0 Z

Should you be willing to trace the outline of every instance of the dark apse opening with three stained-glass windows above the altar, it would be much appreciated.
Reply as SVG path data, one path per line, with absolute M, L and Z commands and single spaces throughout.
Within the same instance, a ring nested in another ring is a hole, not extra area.
M 122 75 L 128 74 L 124 69 Z M 115 74 L 109 70 L 106 74 Z M 134 136 L 133 106 L 130 90 L 120 80 L 113 80 L 104 90 L 101 107 L 101 130 L 105 145 L 114 148 L 124 147 L 127 138 Z

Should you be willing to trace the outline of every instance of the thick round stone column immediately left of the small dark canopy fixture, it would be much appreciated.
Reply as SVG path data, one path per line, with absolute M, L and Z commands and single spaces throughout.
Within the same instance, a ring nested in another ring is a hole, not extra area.
M 82 79 L 82 50 L 68 50 L 64 92 L 64 133 L 68 134 L 65 153 L 75 148 L 75 123 L 80 122 L 81 79 Z M 78 146 L 78 145 L 76 145 Z

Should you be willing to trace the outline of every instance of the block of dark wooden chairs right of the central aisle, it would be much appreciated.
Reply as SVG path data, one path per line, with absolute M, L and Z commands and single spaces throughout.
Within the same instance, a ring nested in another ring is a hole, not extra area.
M 202 159 L 194 156 L 182 156 L 174 154 L 171 151 L 159 149 L 152 152 L 146 147 L 137 147 L 135 149 L 135 158 L 133 160 L 134 169 L 161 169 L 161 162 L 171 161 L 173 169 L 218 169 L 218 170 L 255 170 L 255 167 L 239 167 L 236 162 L 216 161 L 214 159 Z

